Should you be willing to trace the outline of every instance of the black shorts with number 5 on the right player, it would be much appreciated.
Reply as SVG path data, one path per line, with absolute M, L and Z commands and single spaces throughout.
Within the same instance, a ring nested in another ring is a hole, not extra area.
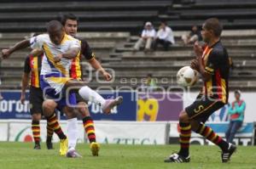
M 201 99 L 196 99 L 193 104 L 186 107 L 185 111 L 189 115 L 190 119 L 205 123 L 212 113 L 223 106 L 224 103 L 219 99 L 202 97 Z

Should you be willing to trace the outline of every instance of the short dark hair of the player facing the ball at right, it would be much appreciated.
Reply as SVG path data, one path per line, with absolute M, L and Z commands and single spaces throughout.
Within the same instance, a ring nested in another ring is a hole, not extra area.
M 216 37 L 220 37 L 221 32 L 223 30 L 223 26 L 221 25 L 217 18 L 210 18 L 206 20 L 204 26 L 208 31 L 212 30 Z

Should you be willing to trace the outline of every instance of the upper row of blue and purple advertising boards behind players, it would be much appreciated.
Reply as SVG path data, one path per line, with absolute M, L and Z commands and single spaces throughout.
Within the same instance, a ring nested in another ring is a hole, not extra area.
M 30 119 L 29 102 L 20 103 L 20 91 L 3 91 L 3 100 L 0 101 L 0 119 Z M 27 94 L 28 95 L 28 94 Z M 26 95 L 26 99 L 28 99 Z M 111 92 L 102 93 L 105 98 L 123 96 L 125 102 L 113 109 L 110 115 L 104 115 L 100 106 L 89 102 L 90 115 L 98 121 L 177 121 L 178 114 L 184 107 L 191 104 L 197 93 L 136 93 Z M 256 121 L 254 96 L 256 93 L 241 93 L 245 100 L 245 122 Z M 230 102 L 234 94 L 230 93 Z M 212 114 L 208 121 L 229 121 L 227 115 L 228 105 Z M 61 120 L 65 120 L 61 116 Z

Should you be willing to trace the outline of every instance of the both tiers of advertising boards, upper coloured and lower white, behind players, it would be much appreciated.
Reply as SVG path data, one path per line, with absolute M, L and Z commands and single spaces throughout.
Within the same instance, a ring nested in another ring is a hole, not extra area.
M 97 139 L 102 144 L 177 144 L 178 114 L 183 107 L 190 104 L 197 93 L 136 93 L 112 92 L 102 93 L 105 98 L 122 95 L 125 102 L 114 109 L 110 115 L 104 115 L 100 107 L 89 103 L 90 114 L 96 120 Z M 235 138 L 236 144 L 254 144 L 253 96 L 255 93 L 242 93 L 241 98 L 247 103 L 245 122 Z M 0 140 L 32 141 L 30 129 L 31 118 L 29 102 L 20 104 L 20 91 L 3 91 L 4 99 L 0 101 Z M 234 100 L 230 94 L 230 101 Z M 61 116 L 61 120 L 65 116 Z M 81 121 L 79 122 L 81 123 Z M 210 116 L 207 123 L 213 125 L 220 136 L 228 125 L 227 105 Z M 66 121 L 61 121 L 66 130 Z M 45 121 L 42 122 L 42 140 L 44 141 Z M 58 139 L 54 138 L 57 142 Z M 84 128 L 79 125 L 80 143 L 87 142 Z M 192 144 L 210 144 L 204 138 L 193 135 Z

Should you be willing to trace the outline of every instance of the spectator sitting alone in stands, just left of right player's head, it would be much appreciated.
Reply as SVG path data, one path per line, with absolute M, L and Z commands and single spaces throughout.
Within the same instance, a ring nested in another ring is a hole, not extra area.
M 201 31 L 198 30 L 197 25 L 193 25 L 189 34 L 182 36 L 185 45 L 194 44 L 196 41 L 201 41 Z

